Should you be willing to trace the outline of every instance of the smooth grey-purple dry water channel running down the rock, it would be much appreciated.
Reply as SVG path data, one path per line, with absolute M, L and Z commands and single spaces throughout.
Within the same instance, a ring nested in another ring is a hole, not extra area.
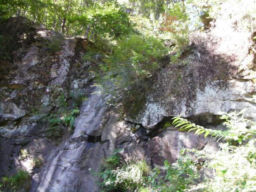
M 97 137 L 101 134 L 105 103 L 106 97 L 94 93 L 83 103 L 75 122 L 74 133 L 63 144 L 53 149 L 46 160 L 47 165 L 42 171 L 38 187 L 34 186 L 31 192 L 78 192 L 85 188 L 85 191 L 91 191 L 91 187 L 95 187 L 90 186 L 90 183 L 84 186 L 85 181 L 91 180 L 92 176 L 88 171 L 89 166 L 84 167 L 82 164 L 85 154 L 96 145 L 88 142 L 88 137 Z

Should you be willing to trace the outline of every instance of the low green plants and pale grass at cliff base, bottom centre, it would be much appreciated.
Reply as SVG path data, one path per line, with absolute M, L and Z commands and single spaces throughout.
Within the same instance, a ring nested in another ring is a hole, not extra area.
M 165 175 L 163 175 L 165 173 Z M 165 160 L 165 166 L 150 170 L 144 160 L 123 162 L 115 153 L 106 159 L 101 171 L 94 173 L 103 182 L 99 185 L 103 191 L 161 191 L 183 192 L 195 184 L 199 178 L 196 166 L 188 155 L 183 155 L 175 164 Z

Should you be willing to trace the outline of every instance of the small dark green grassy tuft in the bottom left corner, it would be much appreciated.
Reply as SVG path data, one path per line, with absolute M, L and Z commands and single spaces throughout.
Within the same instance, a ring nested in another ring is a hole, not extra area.
M 2 177 L 0 189 L 12 192 L 28 191 L 30 188 L 30 178 L 27 171 L 20 170 L 16 175 Z

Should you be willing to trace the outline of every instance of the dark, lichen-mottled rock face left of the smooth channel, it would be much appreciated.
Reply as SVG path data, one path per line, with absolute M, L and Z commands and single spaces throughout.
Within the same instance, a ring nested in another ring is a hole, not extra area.
M 22 17 L 3 21 L 0 35 L 7 46 L 0 53 L 0 176 L 22 167 L 37 175 L 32 160 L 43 161 L 60 143 L 47 134 L 60 95 L 90 92 L 91 66 L 81 59 L 87 40 L 64 39 Z

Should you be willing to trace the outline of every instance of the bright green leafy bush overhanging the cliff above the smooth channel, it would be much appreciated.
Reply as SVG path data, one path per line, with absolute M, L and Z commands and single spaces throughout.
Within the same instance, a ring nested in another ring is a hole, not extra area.
M 112 52 L 101 69 L 107 72 L 107 79 L 115 79 L 117 89 L 122 92 L 131 91 L 132 85 L 152 75 L 167 49 L 154 37 L 132 35 L 121 37 Z

